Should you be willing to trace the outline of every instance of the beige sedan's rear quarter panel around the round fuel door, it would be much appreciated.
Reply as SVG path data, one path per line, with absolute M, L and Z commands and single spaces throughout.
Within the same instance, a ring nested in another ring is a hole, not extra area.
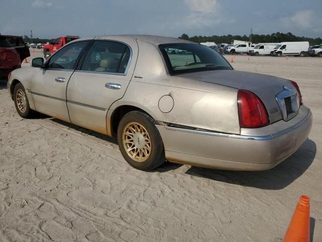
M 217 132 L 239 134 L 237 89 L 170 76 L 157 45 L 138 40 L 133 78 L 122 99 L 112 104 L 137 106 L 155 120 Z M 170 95 L 174 106 L 164 113 L 159 99 Z

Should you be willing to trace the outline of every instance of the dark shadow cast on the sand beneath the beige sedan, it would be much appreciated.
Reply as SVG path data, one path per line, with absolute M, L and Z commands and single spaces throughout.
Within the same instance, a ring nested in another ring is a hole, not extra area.
M 46 116 L 48 117 L 48 116 Z M 53 122 L 66 126 L 70 129 L 80 131 L 101 140 L 118 144 L 117 139 L 108 137 L 97 132 L 84 129 L 56 118 Z M 276 167 L 265 171 L 230 171 L 216 170 L 192 166 L 185 173 L 189 175 L 204 177 L 207 179 L 221 181 L 223 183 L 236 184 L 246 187 L 254 187 L 266 190 L 280 190 L 287 187 L 311 165 L 316 154 L 314 141 L 307 139 L 304 144 L 289 158 Z M 182 164 L 166 162 L 151 172 L 167 172 L 181 167 Z

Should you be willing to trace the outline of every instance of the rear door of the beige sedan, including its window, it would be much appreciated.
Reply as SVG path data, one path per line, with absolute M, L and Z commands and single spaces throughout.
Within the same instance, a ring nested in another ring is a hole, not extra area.
M 128 44 L 115 40 L 92 43 L 67 87 L 67 107 L 72 124 L 107 134 L 107 111 L 114 101 L 123 97 L 137 53 L 134 40 Z

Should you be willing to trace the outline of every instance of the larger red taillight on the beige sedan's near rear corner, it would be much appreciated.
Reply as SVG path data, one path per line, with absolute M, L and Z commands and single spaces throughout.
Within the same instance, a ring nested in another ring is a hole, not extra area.
M 243 128 L 260 128 L 270 124 L 263 102 L 254 93 L 238 90 L 239 126 Z

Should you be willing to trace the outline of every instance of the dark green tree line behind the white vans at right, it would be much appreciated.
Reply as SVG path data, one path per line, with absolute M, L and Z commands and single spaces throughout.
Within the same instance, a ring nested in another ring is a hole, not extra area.
M 253 43 L 280 43 L 280 42 L 291 42 L 291 41 L 308 41 L 310 45 L 322 44 L 321 38 L 308 38 L 308 37 L 299 37 L 295 36 L 292 33 L 280 33 L 276 32 L 273 34 L 252 34 L 251 36 Z M 201 42 L 215 42 L 215 43 L 228 43 L 230 44 L 233 39 L 235 40 L 243 40 L 250 41 L 250 36 L 247 35 L 212 35 L 212 36 L 193 36 L 189 37 L 187 34 L 183 34 L 179 37 L 180 39 L 186 39 L 193 42 L 201 43 Z

